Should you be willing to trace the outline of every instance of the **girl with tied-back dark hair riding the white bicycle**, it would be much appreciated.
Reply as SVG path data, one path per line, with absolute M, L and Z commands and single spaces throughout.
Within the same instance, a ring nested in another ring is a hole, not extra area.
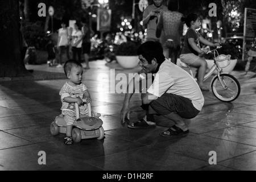
M 182 19 L 188 26 L 187 34 L 184 39 L 184 46 L 181 51 L 180 60 L 192 67 L 199 68 L 198 70 L 198 84 L 202 91 L 209 92 L 209 88 L 204 86 L 204 76 L 207 70 L 207 61 L 199 57 L 199 54 L 208 52 L 208 49 L 201 49 L 200 42 L 211 47 L 220 46 L 220 44 L 209 42 L 204 39 L 196 30 L 201 27 L 201 22 L 197 14 L 189 14 L 187 18 Z

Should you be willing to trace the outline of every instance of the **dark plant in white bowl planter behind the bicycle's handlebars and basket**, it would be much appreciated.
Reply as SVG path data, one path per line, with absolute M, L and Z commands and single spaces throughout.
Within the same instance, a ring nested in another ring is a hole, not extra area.
M 222 68 L 223 72 L 230 73 L 233 71 L 234 67 L 237 64 L 237 59 L 239 52 L 237 51 L 236 47 L 234 47 L 232 44 L 229 43 L 223 43 L 221 44 L 221 48 L 217 50 L 219 55 L 230 55 L 230 64 L 226 68 Z M 218 55 L 216 55 L 217 57 Z M 204 55 L 204 59 L 207 61 L 208 69 L 210 69 L 213 66 L 213 54 L 207 54 Z

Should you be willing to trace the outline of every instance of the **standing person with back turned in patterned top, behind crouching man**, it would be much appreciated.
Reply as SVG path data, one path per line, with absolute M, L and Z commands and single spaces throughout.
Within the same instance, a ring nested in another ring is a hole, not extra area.
M 163 30 L 165 36 L 162 36 L 161 42 L 164 56 L 167 59 L 171 58 L 172 63 L 176 64 L 180 50 L 180 38 L 183 34 L 183 22 L 181 18 L 184 15 L 178 12 L 179 0 L 169 0 L 167 7 L 168 11 L 163 11 L 159 16 L 156 37 L 160 38 Z

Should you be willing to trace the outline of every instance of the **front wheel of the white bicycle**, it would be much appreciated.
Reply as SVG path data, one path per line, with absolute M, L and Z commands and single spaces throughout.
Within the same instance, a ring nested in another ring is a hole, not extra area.
M 241 88 L 237 78 L 229 74 L 220 75 L 225 88 L 221 85 L 218 77 L 214 78 L 212 82 L 212 92 L 218 100 L 224 102 L 232 102 L 237 99 L 240 94 Z

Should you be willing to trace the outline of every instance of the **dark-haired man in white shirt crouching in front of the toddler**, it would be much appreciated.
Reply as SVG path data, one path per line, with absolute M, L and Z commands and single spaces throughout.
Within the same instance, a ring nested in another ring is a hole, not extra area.
M 153 124 L 147 121 L 148 114 L 158 114 L 175 123 L 160 135 L 173 137 L 188 134 L 188 124 L 184 122 L 184 119 L 195 118 L 204 105 L 204 97 L 199 85 L 191 75 L 164 57 L 163 48 L 159 42 L 143 43 L 137 54 L 142 71 L 127 86 L 121 110 L 122 122 L 125 122 L 126 115 L 130 119 L 129 103 L 135 92 L 135 85 L 138 85 L 138 82 L 141 83 L 147 75 L 153 74 L 152 85 L 147 90 L 143 89 L 141 94 L 142 108 L 146 110 L 146 115 L 128 127 L 132 129 L 150 128 Z

